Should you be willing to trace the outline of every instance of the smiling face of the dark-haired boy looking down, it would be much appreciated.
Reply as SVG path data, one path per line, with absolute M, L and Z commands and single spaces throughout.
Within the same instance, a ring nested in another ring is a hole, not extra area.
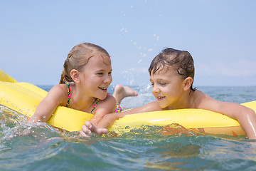
M 173 68 L 151 74 L 152 93 L 161 108 L 174 109 L 182 105 L 184 79 Z

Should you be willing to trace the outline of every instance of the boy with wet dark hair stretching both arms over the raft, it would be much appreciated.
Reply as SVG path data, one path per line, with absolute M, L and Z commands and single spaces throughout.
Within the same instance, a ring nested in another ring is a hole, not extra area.
M 194 65 L 193 58 L 188 51 L 164 49 L 151 62 L 149 76 L 156 101 L 116 115 L 106 115 L 98 127 L 86 122 L 86 125 L 82 126 L 83 132 L 87 136 L 91 132 L 105 133 L 107 130 L 103 128 L 112 125 L 114 120 L 133 113 L 200 108 L 223 113 L 238 120 L 247 138 L 256 139 L 256 115 L 252 109 L 236 103 L 220 102 L 193 88 Z

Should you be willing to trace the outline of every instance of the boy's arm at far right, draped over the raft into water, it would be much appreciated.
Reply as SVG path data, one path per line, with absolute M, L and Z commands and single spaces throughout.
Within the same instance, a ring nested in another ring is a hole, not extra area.
M 243 105 L 230 102 L 220 102 L 213 98 L 203 100 L 199 108 L 222 113 L 238 120 L 249 139 L 256 139 L 256 115 L 255 111 Z

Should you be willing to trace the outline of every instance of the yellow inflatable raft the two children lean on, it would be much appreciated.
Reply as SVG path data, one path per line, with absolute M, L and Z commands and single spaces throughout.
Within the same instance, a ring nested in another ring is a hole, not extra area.
M 0 70 L 1 105 L 30 118 L 35 112 L 38 103 L 41 102 L 46 94 L 45 90 L 30 83 L 18 83 L 14 78 Z M 242 105 L 256 111 L 256 101 L 242 103 Z M 92 116 L 90 113 L 60 106 L 47 123 L 56 128 L 78 131 L 81 130 L 85 121 L 90 120 Z M 137 128 L 142 125 L 164 126 L 171 123 L 178 123 L 187 129 L 203 133 L 245 135 L 237 120 L 220 113 L 202 109 L 165 110 L 127 115 L 117 120 L 112 126 L 112 130 L 126 132 L 131 128 Z

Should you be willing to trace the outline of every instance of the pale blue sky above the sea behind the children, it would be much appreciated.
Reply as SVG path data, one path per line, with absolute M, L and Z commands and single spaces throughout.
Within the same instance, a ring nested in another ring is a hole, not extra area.
M 194 58 L 195 86 L 256 86 L 256 1 L 0 1 L 1 70 L 54 85 L 78 43 L 105 48 L 113 82 L 149 83 L 164 47 Z

